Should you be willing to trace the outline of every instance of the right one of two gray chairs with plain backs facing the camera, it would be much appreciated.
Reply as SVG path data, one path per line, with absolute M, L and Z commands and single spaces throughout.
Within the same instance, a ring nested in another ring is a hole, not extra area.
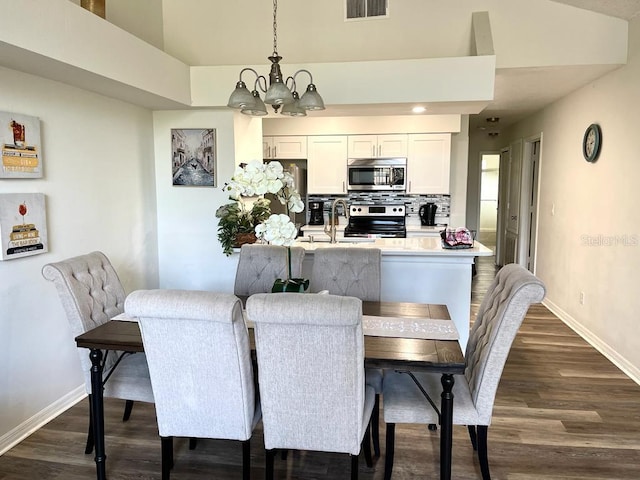
M 365 385 L 362 302 L 303 293 L 257 294 L 247 300 L 255 322 L 267 479 L 275 449 L 351 455 L 358 475 L 374 391 Z

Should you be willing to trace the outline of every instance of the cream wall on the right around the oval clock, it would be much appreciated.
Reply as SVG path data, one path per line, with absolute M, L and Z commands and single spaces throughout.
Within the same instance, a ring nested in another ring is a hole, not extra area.
M 536 272 L 546 303 L 640 381 L 640 19 L 630 23 L 629 61 L 514 126 L 513 142 L 543 132 Z M 602 128 L 594 164 L 581 150 Z M 552 212 L 555 212 L 553 214 Z M 580 305 L 580 292 L 585 294 Z

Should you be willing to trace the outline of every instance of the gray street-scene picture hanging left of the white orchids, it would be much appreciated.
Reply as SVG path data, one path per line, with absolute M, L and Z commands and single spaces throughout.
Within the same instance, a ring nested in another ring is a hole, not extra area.
M 172 128 L 171 161 L 174 185 L 215 187 L 215 128 Z

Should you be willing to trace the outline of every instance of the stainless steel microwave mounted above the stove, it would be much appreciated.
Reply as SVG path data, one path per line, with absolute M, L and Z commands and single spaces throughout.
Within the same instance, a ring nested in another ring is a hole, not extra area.
M 404 191 L 407 189 L 407 159 L 350 158 L 347 160 L 348 190 Z

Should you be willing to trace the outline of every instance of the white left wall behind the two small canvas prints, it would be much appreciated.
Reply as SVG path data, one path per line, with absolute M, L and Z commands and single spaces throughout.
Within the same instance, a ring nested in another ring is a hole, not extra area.
M 155 287 L 157 232 L 149 111 L 4 68 L 0 110 L 40 118 L 44 177 L 0 179 L 0 192 L 44 193 L 49 237 L 48 253 L 0 262 L 2 452 L 20 429 L 84 393 L 67 319 L 42 266 L 102 250 L 127 291 Z

